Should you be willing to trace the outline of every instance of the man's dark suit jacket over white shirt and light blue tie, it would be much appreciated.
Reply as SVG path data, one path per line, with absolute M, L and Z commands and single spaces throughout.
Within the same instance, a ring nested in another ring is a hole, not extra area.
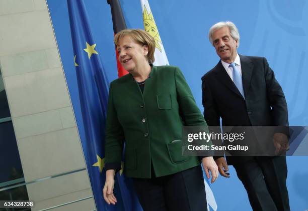
M 202 77 L 204 118 L 209 126 L 288 125 L 287 104 L 281 86 L 265 58 L 242 56 L 245 99 L 230 79 L 221 61 Z M 249 157 L 227 157 L 228 164 Z

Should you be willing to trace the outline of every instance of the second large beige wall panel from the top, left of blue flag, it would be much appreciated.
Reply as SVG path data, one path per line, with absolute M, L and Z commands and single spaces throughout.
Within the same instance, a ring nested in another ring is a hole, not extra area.
M 5 77 L 4 80 L 13 118 L 70 106 L 61 68 Z

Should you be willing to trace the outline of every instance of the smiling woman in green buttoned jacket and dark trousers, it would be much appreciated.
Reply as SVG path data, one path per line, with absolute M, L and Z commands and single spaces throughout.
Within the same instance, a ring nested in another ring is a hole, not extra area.
M 207 126 L 179 68 L 153 66 L 155 40 L 143 30 L 116 34 L 119 62 L 129 74 L 111 82 L 105 137 L 108 204 L 116 203 L 114 175 L 121 168 L 133 178 L 143 210 L 206 210 L 200 159 L 182 155 L 182 127 Z M 211 156 L 203 168 L 214 182 Z

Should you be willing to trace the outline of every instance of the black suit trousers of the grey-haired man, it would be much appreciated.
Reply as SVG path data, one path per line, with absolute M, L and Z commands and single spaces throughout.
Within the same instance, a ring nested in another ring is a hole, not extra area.
M 289 211 L 285 156 L 255 157 L 251 162 L 233 165 L 256 211 Z

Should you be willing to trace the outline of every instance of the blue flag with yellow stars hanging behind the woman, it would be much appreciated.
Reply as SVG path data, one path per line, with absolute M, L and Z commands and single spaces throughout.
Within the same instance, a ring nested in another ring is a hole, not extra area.
M 129 193 L 120 173 L 115 177 L 116 205 L 103 198 L 104 137 L 109 83 L 91 33 L 89 18 L 82 0 L 67 0 L 74 65 L 86 139 L 81 140 L 97 210 L 133 210 L 122 193 Z M 80 128 L 81 129 L 81 128 Z M 130 200 L 131 194 L 128 199 Z M 125 203 L 124 203 L 125 202 Z M 128 201 L 130 204 L 131 201 Z

